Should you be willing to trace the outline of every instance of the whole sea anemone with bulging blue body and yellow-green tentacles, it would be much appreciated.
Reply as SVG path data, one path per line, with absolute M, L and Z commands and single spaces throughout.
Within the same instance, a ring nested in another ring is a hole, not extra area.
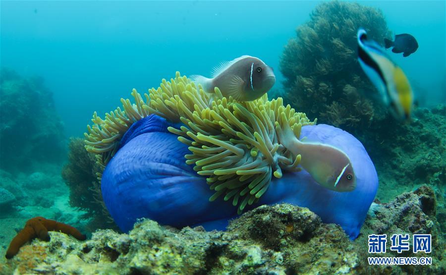
M 160 88 L 144 96 L 133 90 L 132 96 L 135 103 L 121 99 L 123 107 L 104 119 L 95 113 L 85 134 L 86 149 L 103 168 L 97 175 L 104 203 L 122 231 L 141 218 L 223 230 L 242 211 L 286 202 L 340 224 L 350 238 L 358 236 L 378 178 L 349 133 L 314 125 L 281 98 L 236 102 L 219 89 L 204 93 L 178 72 Z M 278 142 L 276 131 L 288 127 L 297 138 L 302 133 L 347 154 L 357 170 L 356 189 L 336 192 L 299 171 L 301 156 Z

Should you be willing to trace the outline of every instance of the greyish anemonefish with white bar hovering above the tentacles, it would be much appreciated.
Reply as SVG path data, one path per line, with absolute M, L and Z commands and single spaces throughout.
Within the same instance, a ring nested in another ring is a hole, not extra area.
M 251 101 L 262 97 L 276 83 L 273 68 L 257 57 L 243 55 L 230 62 L 222 62 L 212 71 L 212 78 L 192 75 L 208 93 L 218 87 L 224 97 Z

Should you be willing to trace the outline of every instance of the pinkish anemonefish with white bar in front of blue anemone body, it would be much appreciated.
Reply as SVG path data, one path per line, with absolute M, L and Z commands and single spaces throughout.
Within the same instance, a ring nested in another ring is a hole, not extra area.
M 279 125 L 276 122 L 280 143 L 295 156 L 301 156 L 300 165 L 317 183 L 337 192 L 350 192 L 356 188 L 356 175 L 344 152 L 331 145 L 298 140 L 287 121 Z

